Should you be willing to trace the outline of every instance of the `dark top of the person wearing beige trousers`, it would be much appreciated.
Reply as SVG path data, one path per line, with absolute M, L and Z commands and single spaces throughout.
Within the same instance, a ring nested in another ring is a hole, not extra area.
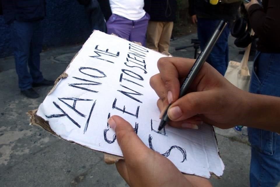
M 151 0 L 150 21 L 175 21 L 176 8 L 176 0 Z

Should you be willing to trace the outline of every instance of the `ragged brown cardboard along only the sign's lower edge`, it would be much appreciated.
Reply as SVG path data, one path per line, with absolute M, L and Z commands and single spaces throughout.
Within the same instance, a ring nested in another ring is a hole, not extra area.
M 76 145 L 79 145 L 79 146 L 83 146 L 79 143 L 76 143 L 74 141 L 69 141 L 69 140 L 66 140 L 64 138 L 62 138 L 61 136 L 57 135 L 53 129 L 50 127 L 50 124 L 48 121 L 44 120 L 42 117 L 36 115 L 37 113 L 37 110 L 38 109 L 35 109 L 35 110 L 29 110 L 27 112 L 27 114 L 29 115 L 30 117 L 30 125 L 34 125 L 34 126 L 38 126 L 38 127 L 41 127 L 43 129 L 45 129 L 46 131 L 48 131 L 49 133 L 53 134 L 54 136 L 62 139 L 62 140 L 65 140 L 65 141 L 68 141 L 68 142 L 71 142 L 73 144 L 76 144 Z M 213 131 L 214 131 L 214 128 L 213 128 Z M 214 131 L 215 133 L 215 131 Z M 215 135 L 215 138 L 216 138 L 216 135 Z M 217 139 L 216 139 L 217 141 Z M 83 146 L 85 148 L 88 148 L 87 146 Z M 90 149 L 90 148 L 89 148 Z M 91 149 L 93 150 L 93 149 Z M 97 151 L 97 150 L 93 150 L 93 151 Z M 112 154 L 109 154 L 109 153 L 105 153 L 105 152 L 102 152 L 102 151 L 98 151 L 98 152 L 101 152 L 104 154 L 104 162 L 106 164 L 115 164 L 116 162 L 118 162 L 119 160 L 124 160 L 123 157 L 120 157 L 120 156 L 117 156 L 117 155 L 112 155 Z M 191 174 L 185 174 L 183 173 L 185 176 L 188 176 L 188 175 L 191 175 Z M 215 178 L 215 179 L 220 179 L 221 177 L 219 176 L 216 176 L 214 173 L 210 172 L 210 176 L 211 178 Z

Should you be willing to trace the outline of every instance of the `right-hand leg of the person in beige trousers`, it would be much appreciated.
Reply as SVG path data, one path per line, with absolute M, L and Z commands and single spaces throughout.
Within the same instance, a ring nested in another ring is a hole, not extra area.
M 160 36 L 160 41 L 158 44 L 158 51 L 162 53 L 163 51 L 169 52 L 170 38 L 173 30 L 173 22 L 164 22 L 162 34 Z

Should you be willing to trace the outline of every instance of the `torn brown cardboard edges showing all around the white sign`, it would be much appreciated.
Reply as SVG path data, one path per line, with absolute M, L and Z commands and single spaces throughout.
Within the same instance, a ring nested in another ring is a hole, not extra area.
M 115 34 L 112 34 L 112 35 L 115 35 Z M 139 43 L 139 42 L 133 42 L 133 43 L 136 43 L 136 44 L 142 46 L 141 43 Z M 83 47 L 82 47 L 81 49 L 83 49 Z M 80 49 L 80 50 L 81 50 L 81 49 Z M 72 58 L 71 62 L 69 63 L 69 65 L 67 66 L 67 68 L 64 70 L 64 72 L 63 72 L 59 77 L 57 77 L 57 79 L 55 80 L 54 86 L 53 86 L 53 88 L 49 91 L 48 95 L 51 94 L 51 93 L 55 90 L 57 84 L 60 82 L 61 79 L 65 79 L 65 78 L 68 77 L 68 74 L 66 73 L 66 70 L 69 68 L 69 66 L 71 65 L 71 63 L 72 63 L 72 61 L 75 59 L 75 57 L 78 55 L 78 53 L 79 53 L 79 51 L 78 51 L 78 52 L 76 53 L 76 55 Z M 164 51 L 164 52 L 162 52 L 161 54 L 166 55 L 166 56 L 168 56 L 168 57 L 173 57 L 173 56 L 172 56 L 169 52 L 167 52 L 167 51 Z M 57 134 L 53 131 L 53 129 L 51 129 L 50 124 L 49 124 L 48 121 L 46 121 L 46 120 L 44 120 L 42 117 L 36 115 L 37 110 L 38 110 L 38 109 L 29 110 L 29 111 L 27 112 L 27 114 L 30 116 L 30 124 L 31 124 L 31 125 L 34 125 L 34 126 L 41 127 L 41 128 L 43 128 L 43 129 L 45 129 L 46 131 L 48 131 L 49 133 L 53 134 L 54 136 L 56 136 L 56 137 L 58 137 L 58 138 L 60 138 L 60 139 L 63 139 L 63 140 L 65 140 L 65 141 L 68 141 L 68 140 L 62 138 L 61 136 L 57 135 Z M 218 146 L 218 142 L 217 142 L 215 130 L 214 130 L 213 127 L 212 127 L 212 129 L 213 129 L 214 136 L 215 136 L 215 139 L 216 139 L 216 143 L 217 143 L 217 146 Z M 71 143 L 76 144 L 76 145 L 83 146 L 83 145 L 81 145 L 81 144 L 79 144 L 79 143 L 76 143 L 76 142 L 74 142 L 74 141 L 68 141 L 68 142 L 71 142 Z M 87 146 L 83 146 L 83 147 L 88 148 Z M 91 149 L 91 150 L 92 150 L 92 149 Z M 97 150 L 94 150 L 94 151 L 97 151 Z M 120 156 L 117 156 L 117 155 L 112 155 L 112 154 L 105 153 L 105 152 L 102 152 L 102 151 L 98 151 L 98 152 L 101 152 L 101 153 L 104 154 L 104 162 L 105 162 L 106 164 L 115 164 L 116 162 L 118 162 L 118 160 L 124 160 L 123 157 L 120 157 Z M 218 151 L 218 155 L 220 156 L 219 151 Z M 191 175 L 191 174 L 185 174 L 185 173 L 183 173 L 183 174 L 184 174 L 185 176 Z M 221 178 L 221 177 L 219 177 L 219 176 L 216 176 L 213 172 L 210 172 L 210 177 L 215 178 L 215 179 L 220 179 L 220 178 Z

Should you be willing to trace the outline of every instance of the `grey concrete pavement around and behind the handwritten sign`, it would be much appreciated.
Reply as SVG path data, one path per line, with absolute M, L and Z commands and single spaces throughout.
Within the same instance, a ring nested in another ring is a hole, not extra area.
M 190 45 L 196 34 L 171 41 L 170 53 L 193 58 L 194 49 L 175 51 Z M 41 53 L 41 70 L 46 79 L 56 79 L 81 45 L 49 49 Z M 230 60 L 240 61 L 241 49 L 230 38 Z M 251 65 L 251 63 L 250 63 Z M 103 162 L 103 154 L 63 141 L 45 130 L 29 126 L 28 110 L 38 108 L 51 87 L 36 89 L 41 95 L 29 99 L 20 95 L 13 57 L 0 59 L 0 186 L 128 186 L 114 165 Z M 233 129 L 216 129 L 220 155 L 225 164 L 222 179 L 213 186 L 249 186 L 250 147 L 247 137 Z

